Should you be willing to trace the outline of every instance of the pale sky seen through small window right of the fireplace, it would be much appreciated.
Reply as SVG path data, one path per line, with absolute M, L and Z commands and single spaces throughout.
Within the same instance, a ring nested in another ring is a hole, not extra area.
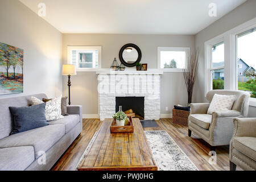
M 164 68 L 164 64 L 170 64 L 171 60 L 176 61 L 177 68 L 185 68 L 185 52 L 184 51 L 161 51 L 160 60 L 161 68 Z

